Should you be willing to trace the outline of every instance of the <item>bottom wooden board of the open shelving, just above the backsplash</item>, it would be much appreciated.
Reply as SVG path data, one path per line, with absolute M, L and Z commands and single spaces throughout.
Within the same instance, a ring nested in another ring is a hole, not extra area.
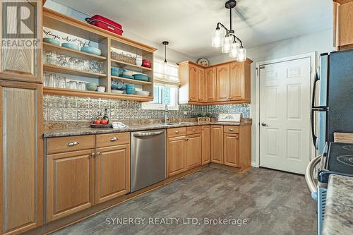
M 105 98 L 105 99 L 116 99 L 116 100 L 135 100 L 140 102 L 148 102 L 153 100 L 153 97 L 151 96 L 114 94 L 114 93 L 108 93 L 108 92 L 93 92 L 89 90 L 72 90 L 72 89 L 49 88 L 49 87 L 43 88 L 43 94 Z

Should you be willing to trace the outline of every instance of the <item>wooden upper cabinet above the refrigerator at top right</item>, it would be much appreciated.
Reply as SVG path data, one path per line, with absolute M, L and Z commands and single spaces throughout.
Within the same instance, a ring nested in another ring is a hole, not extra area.
M 353 1 L 334 0 L 334 45 L 338 50 L 353 48 Z

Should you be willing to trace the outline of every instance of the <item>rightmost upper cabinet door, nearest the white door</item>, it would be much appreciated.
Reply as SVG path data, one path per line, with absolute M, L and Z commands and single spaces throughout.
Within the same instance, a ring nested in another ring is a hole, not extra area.
M 244 62 L 230 64 L 230 100 L 244 100 Z

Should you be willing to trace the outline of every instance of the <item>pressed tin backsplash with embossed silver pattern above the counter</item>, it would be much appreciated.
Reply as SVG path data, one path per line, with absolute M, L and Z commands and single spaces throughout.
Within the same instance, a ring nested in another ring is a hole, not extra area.
M 44 95 L 44 121 L 89 121 L 104 109 L 108 109 L 111 120 L 164 118 L 164 110 L 141 109 L 141 103 L 135 101 Z M 200 112 L 210 112 L 214 117 L 220 113 L 241 112 L 248 118 L 249 104 L 181 104 L 179 111 L 169 111 L 169 118 L 189 119 Z

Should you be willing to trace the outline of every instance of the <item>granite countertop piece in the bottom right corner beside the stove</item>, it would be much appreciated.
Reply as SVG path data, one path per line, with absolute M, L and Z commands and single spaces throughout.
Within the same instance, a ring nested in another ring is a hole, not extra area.
M 322 234 L 353 234 L 353 177 L 330 175 Z

